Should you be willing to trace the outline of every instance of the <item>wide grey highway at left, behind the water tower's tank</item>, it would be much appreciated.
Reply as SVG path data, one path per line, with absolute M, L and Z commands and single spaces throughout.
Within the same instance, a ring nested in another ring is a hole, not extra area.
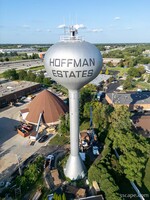
M 8 69 L 20 70 L 41 65 L 43 65 L 43 60 L 41 59 L 0 62 L 0 73 L 3 73 Z

